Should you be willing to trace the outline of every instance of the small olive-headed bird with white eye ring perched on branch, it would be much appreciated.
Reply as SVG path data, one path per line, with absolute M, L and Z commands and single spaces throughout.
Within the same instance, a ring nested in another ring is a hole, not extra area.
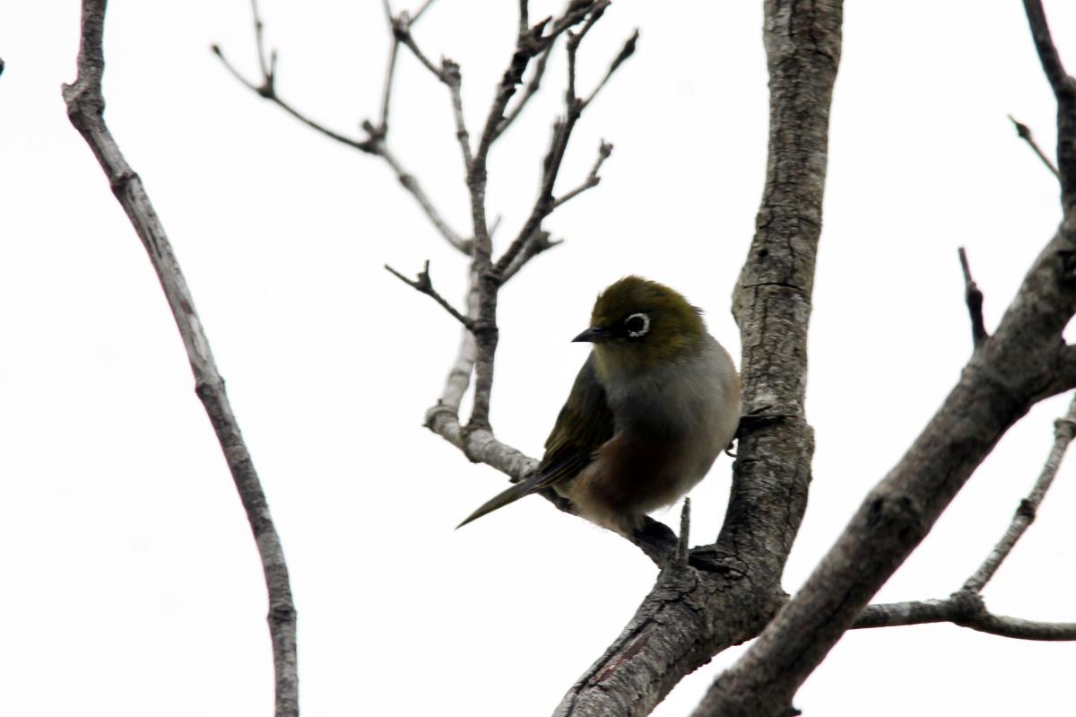
M 594 304 L 576 341 L 594 349 L 532 475 L 461 525 L 552 488 L 580 516 L 631 535 L 647 512 L 675 503 L 728 447 L 740 384 L 702 312 L 654 281 L 625 277 Z

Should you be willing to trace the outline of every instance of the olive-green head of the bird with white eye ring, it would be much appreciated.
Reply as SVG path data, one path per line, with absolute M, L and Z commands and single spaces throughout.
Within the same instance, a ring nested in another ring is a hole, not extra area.
M 697 350 L 706 336 L 702 312 L 656 281 L 624 277 L 594 304 L 591 326 L 576 341 L 595 345 L 599 370 L 639 371 Z

